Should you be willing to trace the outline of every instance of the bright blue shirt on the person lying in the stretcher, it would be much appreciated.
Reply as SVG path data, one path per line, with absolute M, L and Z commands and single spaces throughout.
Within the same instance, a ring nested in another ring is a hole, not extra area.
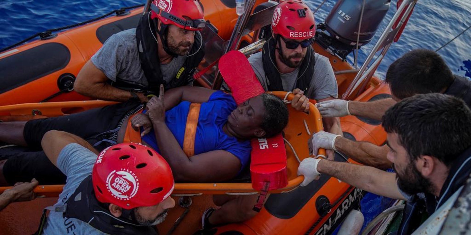
M 169 127 L 180 147 L 183 146 L 190 102 L 180 102 L 165 112 L 165 124 Z M 195 135 L 195 155 L 214 150 L 226 150 L 239 158 L 242 168 L 248 164 L 252 147 L 250 141 L 238 141 L 222 130 L 227 117 L 237 107 L 232 95 L 217 91 L 211 94 L 208 102 L 201 104 Z M 154 131 L 142 137 L 152 148 L 159 151 Z

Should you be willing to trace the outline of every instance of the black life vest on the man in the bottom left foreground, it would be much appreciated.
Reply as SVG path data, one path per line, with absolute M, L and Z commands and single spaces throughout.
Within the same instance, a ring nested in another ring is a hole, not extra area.
M 141 226 L 128 219 L 133 210 L 123 210 L 122 216 L 114 217 L 108 208 L 98 202 L 93 192 L 91 175 L 83 180 L 72 196 L 65 202 L 64 216 L 88 223 L 106 234 L 157 235 L 155 227 Z M 133 216 L 131 216 L 132 218 Z

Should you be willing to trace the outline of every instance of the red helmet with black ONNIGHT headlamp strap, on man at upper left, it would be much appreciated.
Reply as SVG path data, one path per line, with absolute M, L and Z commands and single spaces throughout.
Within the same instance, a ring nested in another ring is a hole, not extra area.
M 159 18 L 162 24 L 174 24 L 191 31 L 201 31 L 206 26 L 199 0 L 153 0 L 151 19 Z

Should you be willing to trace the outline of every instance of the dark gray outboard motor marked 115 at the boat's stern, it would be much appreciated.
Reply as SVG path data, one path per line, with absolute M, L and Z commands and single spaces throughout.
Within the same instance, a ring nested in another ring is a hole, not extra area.
M 389 10 L 391 0 L 366 0 L 361 22 L 358 46 L 370 42 L 374 33 Z M 317 26 L 323 30 L 316 34 L 316 40 L 325 49 L 345 60 L 357 47 L 358 25 L 360 24 L 363 0 L 339 0 L 325 18 L 325 23 Z M 327 31 L 327 35 L 324 31 Z

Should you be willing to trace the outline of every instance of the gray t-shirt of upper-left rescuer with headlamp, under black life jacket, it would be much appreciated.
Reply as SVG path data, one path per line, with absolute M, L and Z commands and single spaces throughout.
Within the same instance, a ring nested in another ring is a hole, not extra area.
M 163 79 L 169 82 L 185 63 L 186 55 L 173 58 L 170 63 L 160 64 Z M 148 86 L 147 78 L 141 68 L 136 42 L 136 29 L 113 34 L 106 39 L 91 62 L 112 81 L 121 80 L 131 84 Z

